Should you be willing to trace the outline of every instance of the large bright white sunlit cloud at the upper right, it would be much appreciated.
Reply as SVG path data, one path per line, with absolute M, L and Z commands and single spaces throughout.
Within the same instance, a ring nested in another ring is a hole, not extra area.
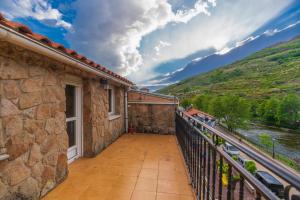
M 258 28 L 278 16 L 292 0 L 229 0 L 218 1 L 210 10 L 211 14 L 198 15 L 186 24 L 178 24 L 169 29 L 157 30 L 144 46 L 143 67 L 130 76 L 137 82 L 143 82 L 145 76 L 155 75 L 154 66 L 178 58 L 184 58 L 195 52 L 216 49 L 226 53 L 232 44 L 249 37 Z M 261 12 L 261 10 L 264 12 Z M 172 46 L 165 47 L 156 60 L 153 44 L 167 40 Z M 147 55 L 147 56 L 146 56 Z M 144 72 L 146 71 L 146 72 Z

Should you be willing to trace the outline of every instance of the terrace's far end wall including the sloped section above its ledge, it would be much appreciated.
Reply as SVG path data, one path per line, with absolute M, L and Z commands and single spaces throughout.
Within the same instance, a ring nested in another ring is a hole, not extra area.
M 178 99 L 139 90 L 128 92 L 128 126 L 131 132 L 174 134 Z

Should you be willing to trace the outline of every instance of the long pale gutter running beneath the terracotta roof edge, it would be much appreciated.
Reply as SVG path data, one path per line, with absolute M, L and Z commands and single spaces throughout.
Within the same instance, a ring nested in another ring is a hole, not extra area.
M 17 46 L 21 46 L 25 49 L 34 51 L 38 54 L 47 56 L 49 58 L 55 59 L 62 63 L 72 65 L 76 68 L 82 69 L 84 71 L 96 74 L 98 76 L 101 76 L 101 77 L 104 77 L 107 79 L 111 79 L 117 83 L 121 83 L 122 85 L 126 85 L 128 87 L 132 86 L 132 84 L 130 84 L 130 83 L 119 80 L 118 78 L 110 76 L 110 75 L 106 74 L 105 72 L 99 71 L 84 62 L 81 62 L 71 56 L 64 54 L 63 52 L 55 50 L 41 42 L 33 40 L 25 35 L 18 33 L 17 31 L 7 28 L 3 25 L 0 25 L 0 40 L 8 41 Z

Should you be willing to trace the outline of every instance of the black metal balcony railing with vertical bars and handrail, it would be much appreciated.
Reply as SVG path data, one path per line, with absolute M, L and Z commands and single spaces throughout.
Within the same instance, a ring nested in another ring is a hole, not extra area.
M 181 111 L 176 112 L 176 136 L 197 199 L 298 199 L 299 176 Z M 271 191 L 223 150 L 224 141 L 283 180 L 285 188 Z

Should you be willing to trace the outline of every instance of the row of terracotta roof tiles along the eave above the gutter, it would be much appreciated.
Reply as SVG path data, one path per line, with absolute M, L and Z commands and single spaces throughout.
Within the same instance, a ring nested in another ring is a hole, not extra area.
M 6 20 L 1 13 L 0 13 L 0 24 L 17 31 L 18 33 L 26 35 L 26 36 L 30 37 L 31 39 L 42 42 L 43 44 L 46 44 L 46 45 L 48 45 L 48 46 L 50 46 L 54 49 L 60 50 L 60 51 L 64 52 L 67 55 L 71 55 L 74 58 L 76 58 L 76 59 L 78 59 L 78 60 L 94 67 L 97 70 L 105 72 L 105 73 L 109 74 L 112 77 L 115 77 L 115 78 L 117 78 L 119 80 L 122 80 L 126 83 L 133 84 L 131 81 L 129 81 L 126 78 L 124 78 L 124 77 L 108 70 L 107 68 L 103 67 L 102 65 L 99 65 L 99 64 L 95 63 L 94 61 L 87 59 L 85 56 L 79 55 L 76 51 L 74 51 L 72 49 L 67 49 L 63 45 L 61 45 L 59 43 L 56 43 L 56 42 L 53 42 L 53 41 L 51 41 L 50 39 L 48 39 L 47 37 L 45 37 L 43 35 L 33 33 L 31 31 L 31 29 L 28 28 L 27 26 L 25 26 L 24 24 Z

